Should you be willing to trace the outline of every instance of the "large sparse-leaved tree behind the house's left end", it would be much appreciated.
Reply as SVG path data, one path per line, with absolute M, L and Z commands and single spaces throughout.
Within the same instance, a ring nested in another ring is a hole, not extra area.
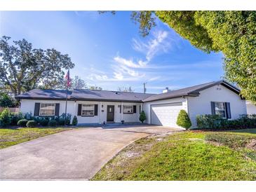
M 63 69 L 74 67 L 67 54 L 54 48 L 34 49 L 25 39 L 11 45 L 10 39 L 0 40 L 0 81 L 15 96 L 40 85 L 54 88 L 65 75 Z

